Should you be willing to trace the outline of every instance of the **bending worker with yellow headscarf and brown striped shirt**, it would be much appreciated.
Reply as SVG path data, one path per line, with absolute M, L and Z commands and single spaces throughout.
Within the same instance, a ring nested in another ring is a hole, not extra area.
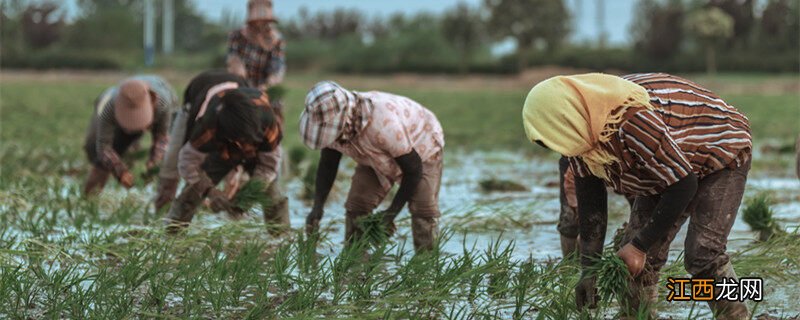
M 522 111 L 532 142 L 570 157 L 580 217 L 581 264 L 603 250 L 604 184 L 636 200 L 617 254 L 634 276 L 623 312 L 658 293 L 669 243 L 689 219 L 685 267 L 693 276 L 736 278 L 725 253 L 750 169 L 749 121 L 699 85 L 661 73 L 558 76 L 531 89 Z M 595 280 L 576 288 L 596 302 Z M 710 301 L 718 319 L 747 319 L 741 301 Z M 652 309 L 651 309 L 652 311 Z

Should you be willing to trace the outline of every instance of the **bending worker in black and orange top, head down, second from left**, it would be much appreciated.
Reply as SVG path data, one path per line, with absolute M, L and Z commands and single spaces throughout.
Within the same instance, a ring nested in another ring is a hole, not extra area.
M 175 196 L 178 174 L 186 181 L 167 215 L 168 230 L 188 226 L 205 197 L 213 211 L 240 217 L 241 209 L 215 188 L 238 165 L 269 186 L 265 192 L 272 201 L 263 208 L 265 222 L 288 226 L 288 201 L 276 179 L 282 118 L 270 107 L 267 96 L 247 88 L 242 77 L 209 71 L 192 79 L 184 100 L 170 133 L 156 196 L 160 208 Z

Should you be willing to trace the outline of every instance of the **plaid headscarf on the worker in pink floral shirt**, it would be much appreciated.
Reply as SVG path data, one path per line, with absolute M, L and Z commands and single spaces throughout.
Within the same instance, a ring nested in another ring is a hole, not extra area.
M 333 81 L 314 85 L 305 105 L 300 115 L 300 136 L 311 149 L 352 140 L 369 124 L 374 108 L 369 99 Z

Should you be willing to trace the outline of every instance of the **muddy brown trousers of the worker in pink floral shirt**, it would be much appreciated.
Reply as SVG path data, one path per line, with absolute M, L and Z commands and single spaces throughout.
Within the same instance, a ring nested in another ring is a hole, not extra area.
M 441 157 L 440 157 L 441 159 Z M 442 160 L 422 164 L 422 179 L 408 201 L 411 212 L 411 233 L 414 237 L 414 249 L 417 252 L 434 248 L 439 233 L 439 187 L 442 180 Z M 352 243 L 362 235 L 356 224 L 360 217 L 372 213 L 386 198 L 388 188 L 384 188 L 375 171 L 368 166 L 356 166 L 350 191 L 345 202 L 345 241 Z

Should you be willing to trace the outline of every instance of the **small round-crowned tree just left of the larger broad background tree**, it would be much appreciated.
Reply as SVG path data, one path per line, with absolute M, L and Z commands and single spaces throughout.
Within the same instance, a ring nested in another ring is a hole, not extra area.
M 485 25 L 480 12 L 460 2 L 442 17 L 445 39 L 459 52 L 459 71 L 469 71 L 469 62 L 475 50 L 483 43 Z

